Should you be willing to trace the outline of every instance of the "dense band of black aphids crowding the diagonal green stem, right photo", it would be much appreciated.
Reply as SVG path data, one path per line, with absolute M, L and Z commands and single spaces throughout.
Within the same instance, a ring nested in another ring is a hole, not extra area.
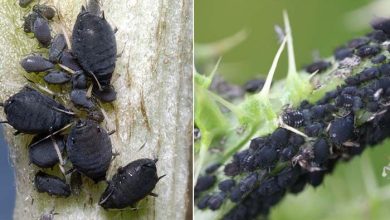
M 285 109 L 281 121 L 292 129 L 284 126 L 254 138 L 228 164 L 210 165 L 211 171 L 206 169 L 195 186 L 199 209 L 217 210 L 230 200 L 235 206 L 224 219 L 267 215 L 287 192 L 299 193 L 306 184 L 319 186 L 338 161 L 390 136 L 389 51 L 388 44 L 382 44 L 390 39 L 390 19 L 373 27 L 374 32 L 334 53 L 336 62 L 359 57 L 369 67 L 345 78 L 345 84 L 316 103 L 303 101 L 298 108 Z M 331 66 L 316 61 L 306 72 L 321 73 Z

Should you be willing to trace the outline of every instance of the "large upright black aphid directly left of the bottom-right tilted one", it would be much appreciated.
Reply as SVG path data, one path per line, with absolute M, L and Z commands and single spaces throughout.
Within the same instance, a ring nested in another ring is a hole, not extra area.
M 104 180 L 112 159 L 107 131 L 92 120 L 79 120 L 68 135 L 66 149 L 73 167 L 95 182 Z

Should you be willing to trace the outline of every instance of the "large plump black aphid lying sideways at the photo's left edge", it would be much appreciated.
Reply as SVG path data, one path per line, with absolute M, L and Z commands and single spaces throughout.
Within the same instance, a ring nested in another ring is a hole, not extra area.
M 8 123 L 22 133 L 50 133 L 70 123 L 73 116 L 60 103 L 25 87 L 4 103 Z

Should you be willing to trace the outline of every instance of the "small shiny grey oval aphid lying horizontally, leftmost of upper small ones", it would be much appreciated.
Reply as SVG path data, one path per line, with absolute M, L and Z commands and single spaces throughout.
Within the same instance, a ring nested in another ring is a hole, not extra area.
M 41 55 L 31 54 L 20 61 L 26 72 L 43 72 L 54 68 L 54 64 Z

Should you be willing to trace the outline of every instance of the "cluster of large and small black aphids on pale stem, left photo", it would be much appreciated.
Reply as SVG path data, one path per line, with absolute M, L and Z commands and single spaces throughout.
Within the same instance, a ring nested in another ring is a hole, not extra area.
M 27 7 L 29 2 L 19 3 Z M 17 134 L 35 135 L 28 147 L 35 166 L 52 168 L 59 164 L 64 177 L 72 175 L 72 182 L 73 176 L 82 174 L 97 183 L 106 180 L 113 159 L 110 133 L 99 125 L 104 116 L 95 98 L 103 102 L 116 99 L 110 84 L 117 53 L 115 34 L 104 14 L 95 15 L 83 7 L 74 25 L 70 50 L 65 34 L 52 39 L 49 22 L 55 14 L 52 7 L 37 4 L 25 17 L 24 31 L 34 33 L 39 44 L 49 50 L 48 58 L 31 54 L 20 64 L 27 73 L 45 72 L 43 79 L 48 84 L 70 82 L 70 100 L 77 111 L 87 112 L 84 115 L 88 116 L 75 113 L 34 89 L 34 85 L 27 85 L 2 103 L 7 118 L 3 123 L 11 125 Z M 69 170 L 64 168 L 65 154 L 72 165 Z M 157 159 L 144 158 L 120 167 L 107 181 L 99 204 L 105 209 L 122 209 L 134 207 L 147 195 L 157 196 L 152 190 L 162 177 L 157 176 L 156 162 Z M 69 179 L 39 171 L 34 182 L 38 192 L 68 197 L 73 190 Z

